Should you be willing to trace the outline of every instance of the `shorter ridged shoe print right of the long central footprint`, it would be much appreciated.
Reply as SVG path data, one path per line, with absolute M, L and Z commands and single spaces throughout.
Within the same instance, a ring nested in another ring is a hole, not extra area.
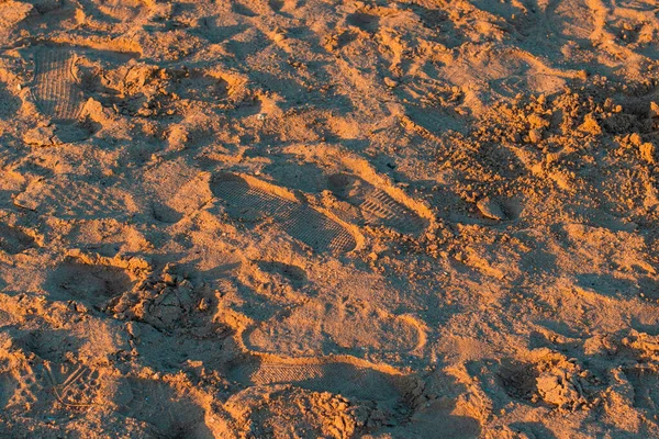
M 376 224 L 402 233 L 417 233 L 425 226 L 423 218 L 412 210 L 356 176 L 345 173 L 331 176 L 330 189 L 338 199 L 365 212 L 367 219 Z

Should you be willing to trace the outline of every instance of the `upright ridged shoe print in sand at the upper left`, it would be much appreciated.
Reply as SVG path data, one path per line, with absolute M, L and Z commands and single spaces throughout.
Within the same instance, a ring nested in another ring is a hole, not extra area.
M 56 121 L 74 121 L 82 109 L 82 90 L 74 68 L 75 53 L 67 47 L 41 47 L 35 53 L 34 98 L 42 113 Z

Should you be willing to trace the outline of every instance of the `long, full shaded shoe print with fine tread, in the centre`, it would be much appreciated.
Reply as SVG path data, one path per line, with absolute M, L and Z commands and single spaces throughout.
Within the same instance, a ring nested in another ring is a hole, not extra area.
M 271 217 L 290 236 L 316 251 L 347 252 L 357 245 L 344 226 L 315 209 L 255 188 L 239 176 L 219 176 L 211 189 L 230 207 L 242 212 L 253 210 Z

